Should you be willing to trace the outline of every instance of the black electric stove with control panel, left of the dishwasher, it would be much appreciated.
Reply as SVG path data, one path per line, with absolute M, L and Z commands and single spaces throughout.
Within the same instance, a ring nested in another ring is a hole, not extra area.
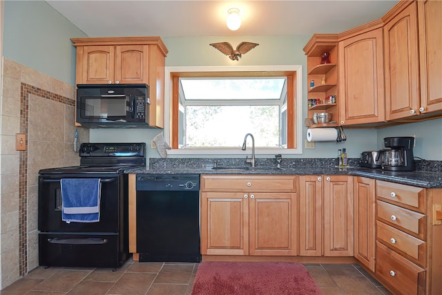
M 86 143 L 80 165 L 39 171 L 39 265 L 120 267 L 128 258 L 128 175 L 146 165 L 145 143 Z M 99 220 L 61 218 L 61 179 L 97 178 Z

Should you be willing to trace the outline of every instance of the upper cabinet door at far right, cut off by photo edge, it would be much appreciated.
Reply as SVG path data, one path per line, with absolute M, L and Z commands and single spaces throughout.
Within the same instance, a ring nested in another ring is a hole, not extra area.
M 418 1 L 421 112 L 442 110 L 442 1 Z

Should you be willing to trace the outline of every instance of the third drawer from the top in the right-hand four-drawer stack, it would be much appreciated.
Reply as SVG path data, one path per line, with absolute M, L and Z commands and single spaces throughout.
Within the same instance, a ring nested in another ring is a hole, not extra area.
M 423 240 L 414 238 L 414 236 L 379 221 L 377 222 L 376 238 L 414 263 L 425 266 L 427 243 Z

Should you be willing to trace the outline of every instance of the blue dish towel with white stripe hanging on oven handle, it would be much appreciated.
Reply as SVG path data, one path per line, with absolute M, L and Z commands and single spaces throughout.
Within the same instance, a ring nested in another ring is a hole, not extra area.
M 99 178 L 62 178 L 61 220 L 66 222 L 99 222 L 102 184 Z

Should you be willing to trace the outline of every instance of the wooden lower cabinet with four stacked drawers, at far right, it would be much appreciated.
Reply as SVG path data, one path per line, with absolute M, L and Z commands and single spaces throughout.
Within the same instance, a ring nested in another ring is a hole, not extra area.
M 376 277 L 394 294 L 441 294 L 442 189 L 376 180 Z

